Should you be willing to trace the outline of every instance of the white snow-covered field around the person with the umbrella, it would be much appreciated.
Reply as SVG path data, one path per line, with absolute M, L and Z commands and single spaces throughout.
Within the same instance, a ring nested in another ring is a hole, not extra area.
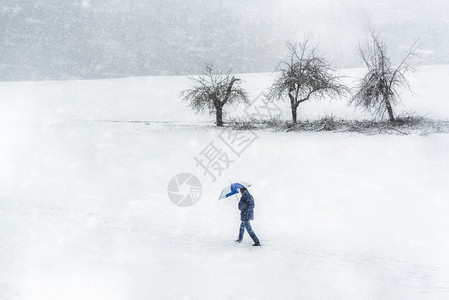
M 270 76 L 244 75 L 251 96 Z M 447 78 L 423 67 L 403 109 L 449 119 Z M 179 103 L 188 86 L 0 83 L 0 299 L 448 299 L 449 135 L 258 131 L 212 183 L 193 158 L 221 130 Z M 203 185 L 189 208 L 167 195 L 181 172 Z M 234 243 L 229 179 L 253 183 L 260 248 Z

